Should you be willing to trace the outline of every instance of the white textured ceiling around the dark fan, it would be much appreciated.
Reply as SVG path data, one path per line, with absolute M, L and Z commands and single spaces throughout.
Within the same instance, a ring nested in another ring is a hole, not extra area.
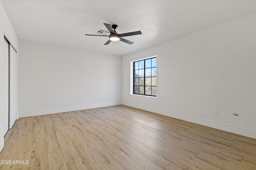
M 1 0 L 19 39 L 126 55 L 256 13 L 256 0 Z M 128 45 L 85 36 L 117 24 Z

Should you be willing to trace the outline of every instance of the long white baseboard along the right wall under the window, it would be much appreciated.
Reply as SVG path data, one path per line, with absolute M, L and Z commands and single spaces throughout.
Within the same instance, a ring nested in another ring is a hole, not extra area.
M 128 103 L 128 102 L 122 102 L 122 104 L 125 105 L 125 106 L 130 106 L 130 107 L 135 107 L 137 109 L 151 111 L 153 113 L 158 113 L 160 115 L 166 115 L 166 116 L 169 116 L 169 117 L 174 117 L 176 119 L 181 119 L 181 120 L 184 120 L 184 121 L 189 121 L 189 122 L 192 122 L 192 123 L 197 123 L 197 124 L 200 124 L 200 125 L 204 125 L 204 126 L 212 127 L 212 128 L 215 128 L 215 129 L 220 129 L 220 130 L 223 130 L 223 131 L 228 131 L 228 132 L 231 132 L 231 133 L 236 133 L 238 135 L 243 135 L 243 136 L 246 136 L 246 137 L 251 137 L 251 138 L 256 139 L 256 131 L 254 131 L 252 129 L 245 129 L 245 128 L 236 127 L 236 126 L 233 126 L 233 125 L 227 125 L 227 124 L 214 122 L 214 121 L 209 121 L 209 120 L 205 120 L 205 119 L 198 119 L 196 117 L 190 117 L 190 116 L 182 115 L 182 114 L 178 114 L 178 113 L 171 113 L 171 112 L 168 112 L 168 111 L 163 111 L 163 110 L 154 109 L 154 108 L 150 108 L 150 107 L 131 104 L 131 103 Z

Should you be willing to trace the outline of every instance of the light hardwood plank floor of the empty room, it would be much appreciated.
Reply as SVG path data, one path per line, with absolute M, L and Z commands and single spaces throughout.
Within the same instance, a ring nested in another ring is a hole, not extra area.
M 20 118 L 0 160 L 2 170 L 255 170 L 256 139 L 120 105 Z

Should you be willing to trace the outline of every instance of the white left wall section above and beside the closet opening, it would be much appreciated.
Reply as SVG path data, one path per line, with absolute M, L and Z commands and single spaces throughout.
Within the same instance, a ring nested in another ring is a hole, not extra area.
M 4 35 L 18 51 L 18 37 L 10 23 L 10 20 L 0 2 L 0 117 L 4 117 Z M 3 119 L 0 118 L 0 150 L 4 147 Z

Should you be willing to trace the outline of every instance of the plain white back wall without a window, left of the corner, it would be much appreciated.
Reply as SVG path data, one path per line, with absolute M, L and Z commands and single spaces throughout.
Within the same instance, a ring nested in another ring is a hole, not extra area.
M 121 104 L 120 56 L 23 40 L 19 47 L 19 117 Z

